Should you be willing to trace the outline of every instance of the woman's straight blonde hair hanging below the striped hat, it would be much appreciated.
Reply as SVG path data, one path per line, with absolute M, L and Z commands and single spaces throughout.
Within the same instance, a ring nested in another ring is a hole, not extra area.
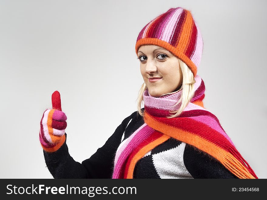
M 178 90 L 174 92 L 162 94 L 160 97 L 167 95 L 167 94 L 173 94 L 173 93 L 176 93 L 182 90 L 180 99 L 173 106 L 175 107 L 181 102 L 181 107 L 178 110 L 170 111 L 170 113 L 172 113 L 173 115 L 170 114 L 170 116 L 167 116 L 167 118 L 173 118 L 173 117 L 179 116 L 183 112 L 184 108 L 187 107 L 188 103 L 191 101 L 192 97 L 194 96 L 194 83 L 196 82 L 194 79 L 194 75 L 191 69 L 181 59 L 178 58 L 178 60 L 179 60 L 179 64 L 180 64 L 182 75 L 183 75 L 182 85 Z M 141 104 L 144 101 L 143 93 L 145 90 L 147 90 L 147 86 L 146 86 L 146 83 L 143 83 L 138 92 L 138 97 L 137 97 L 137 110 L 141 116 L 144 116 L 144 112 L 141 110 Z

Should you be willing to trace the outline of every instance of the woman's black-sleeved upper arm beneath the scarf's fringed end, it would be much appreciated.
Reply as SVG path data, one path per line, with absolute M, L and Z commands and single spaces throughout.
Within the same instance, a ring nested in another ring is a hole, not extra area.
M 189 144 L 184 149 L 184 165 L 194 178 L 238 178 L 215 158 Z

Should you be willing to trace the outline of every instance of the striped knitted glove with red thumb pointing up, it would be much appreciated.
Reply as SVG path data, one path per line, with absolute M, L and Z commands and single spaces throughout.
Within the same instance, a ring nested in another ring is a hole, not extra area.
M 40 122 L 39 139 L 42 148 L 47 152 L 57 151 L 66 140 L 67 117 L 61 111 L 58 91 L 52 94 L 52 107 L 52 109 L 45 110 Z

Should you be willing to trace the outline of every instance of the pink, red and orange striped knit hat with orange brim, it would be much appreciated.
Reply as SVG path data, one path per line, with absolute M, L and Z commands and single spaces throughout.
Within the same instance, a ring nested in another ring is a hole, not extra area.
M 161 46 L 176 55 L 196 77 L 203 39 L 190 11 L 170 8 L 145 25 L 137 37 L 136 54 L 141 45 L 147 44 Z

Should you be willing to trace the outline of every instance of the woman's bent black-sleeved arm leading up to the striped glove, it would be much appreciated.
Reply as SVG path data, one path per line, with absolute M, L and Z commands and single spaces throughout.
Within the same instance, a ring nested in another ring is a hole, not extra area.
M 125 118 L 106 143 L 82 163 L 76 162 L 70 156 L 66 140 L 57 151 L 43 150 L 47 168 L 52 176 L 54 178 L 112 178 L 113 159 L 133 114 Z M 66 133 L 65 136 L 67 136 Z

